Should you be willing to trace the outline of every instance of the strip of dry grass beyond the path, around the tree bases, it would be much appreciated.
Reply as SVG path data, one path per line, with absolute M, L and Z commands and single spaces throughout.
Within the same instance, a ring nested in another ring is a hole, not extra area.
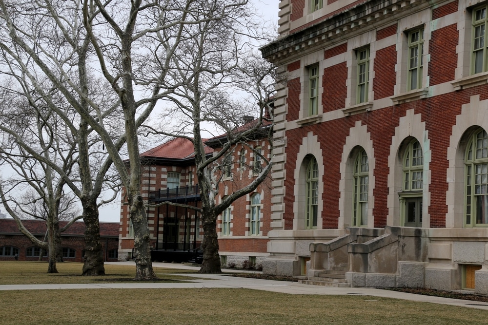
M 48 274 L 46 273 L 46 262 L 2 261 L 0 262 L 0 285 L 134 282 L 132 279 L 136 275 L 135 266 L 105 264 L 106 275 L 81 276 L 82 267 L 82 263 L 57 263 L 56 268 L 59 273 Z M 192 273 L 196 271 L 154 268 L 154 272 L 160 277 L 159 281 L 176 282 L 189 278 L 166 273 Z

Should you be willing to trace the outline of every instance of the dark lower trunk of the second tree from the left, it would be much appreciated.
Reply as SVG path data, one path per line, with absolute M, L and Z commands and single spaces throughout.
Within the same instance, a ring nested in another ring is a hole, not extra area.
M 83 222 L 86 227 L 84 236 L 85 261 L 82 275 L 105 275 L 97 202 L 93 199 L 88 201 L 82 202 Z

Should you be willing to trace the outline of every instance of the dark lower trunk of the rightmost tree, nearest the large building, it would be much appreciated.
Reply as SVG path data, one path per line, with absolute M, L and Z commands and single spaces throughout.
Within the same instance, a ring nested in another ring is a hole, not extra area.
M 210 212 L 206 212 L 210 213 Z M 199 273 L 222 273 L 220 268 L 219 241 L 217 240 L 217 218 L 205 214 L 203 220 L 203 263 Z

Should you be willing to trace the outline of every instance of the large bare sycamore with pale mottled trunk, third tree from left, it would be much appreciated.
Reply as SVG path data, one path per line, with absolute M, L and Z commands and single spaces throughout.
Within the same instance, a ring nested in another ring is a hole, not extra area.
M 0 0 L 0 50 L 4 61 L 15 67 L 12 74 L 29 80 L 46 102 L 51 100 L 51 94 L 43 90 L 42 83 L 48 80 L 53 91 L 61 94 L 77 113 L 83 130 L 90 128 L 100 136 L 119 173 L 134 227 L 138 280 L 155 277 L 146 202 L 140 188 L 139 129 L 159 109 L 162 99 L 177 97 L 173 94 L 178 87 L 200 87 L 200 77 L 195 76 L 200 75 L 203 65 L 182 66 L 179 56 L 193 51 L 193 40 L 197 38 L 217 42 L 226 33 L 234 34 L 211 26 L 213 22 L 240 19 L 236 15 L 244 13 L 240 9 L 246 2 Z M 200 28 L 209 29 L 202 33 Z M 112 95 L 107 96 L 116 98 L 113 110 L 105 110 L 106 106 L 90 93 L 94 87 L 90 87 L 90 80 L 97 77 L 104 80 L 99 87 Z M 50 107 L 62 116 L 57 105 Z M 120 108 L 120 119 L 116 108 Z M 114 136 L 112 128 L 119 125 L 123 132 Z M 120 152 L 122 144 L 126 155 Z M 81 169 L 88 163 L 79 164 Z M 200 172 L 206 173 L 203 169 Z

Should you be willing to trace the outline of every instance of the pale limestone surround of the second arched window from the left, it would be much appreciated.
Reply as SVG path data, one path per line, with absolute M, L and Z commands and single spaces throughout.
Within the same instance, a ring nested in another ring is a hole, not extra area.
M 369 175 L 368 175 L 368 212 L 367 212 L 367 228 L 374 227 L 374 170 L 375 170 L 375 156 L 373 149 L 373 141 L 370 133 L 367 131 L 367 125 L 361 125 L 361 121 L 356 121 L 356 125 L 349 130 L 349 135 L 346 137 L 346 144 L 343 147 L 342 160 L 340 165 L 341 179 L 339 181 L 339 191 L 341 197 L 339 198 L 339 229 L 345 229 L 352 223 L 352 192 L 353 182 L 352 174 L 355 161 L 355 148 L 362 147 L 368 157 Z

